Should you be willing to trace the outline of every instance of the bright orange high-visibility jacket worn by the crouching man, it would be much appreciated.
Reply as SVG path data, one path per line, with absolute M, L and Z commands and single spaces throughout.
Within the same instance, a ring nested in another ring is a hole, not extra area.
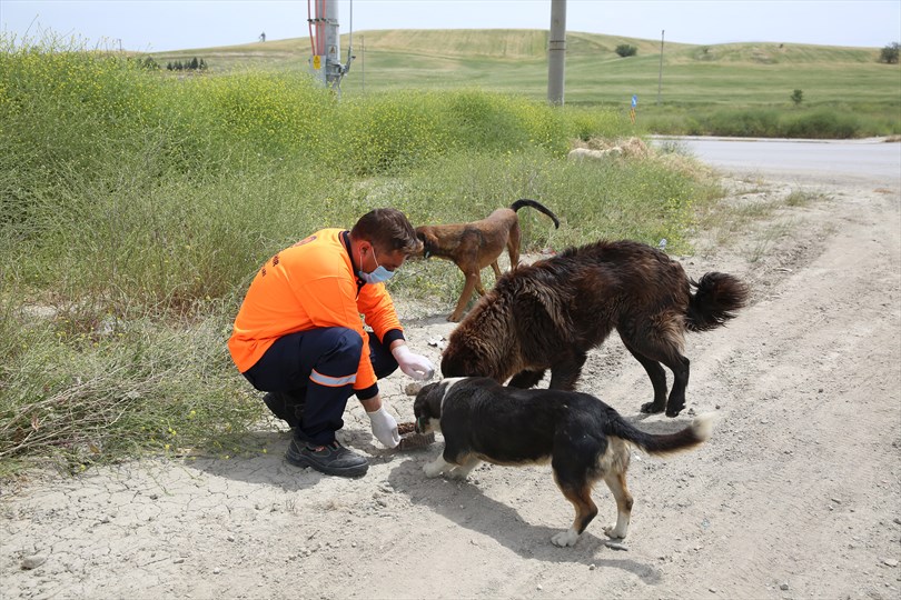
M 403 332 L 384 283 L 358 284 L 343 229 L 323 229 L 277 253 L 257 272 L 228 340 L 231 359 L 245 372 L 280 337 L 324 327 L 353 329 L 363 338 L 355 390 L 377 381 L 363 320 L 379 340 Z M 353 373 L 347 373 L 353 374 Z

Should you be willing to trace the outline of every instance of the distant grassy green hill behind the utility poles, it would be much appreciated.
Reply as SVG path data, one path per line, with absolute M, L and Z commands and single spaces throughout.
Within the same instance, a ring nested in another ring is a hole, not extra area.
M 344 93 L 392 89 L 477 87 L 542 99 L 547 90 L 547 31 L 544 30 L 378 30 L 353 36 L 350 73 Z M 637 56 L 620 58 L 627 43 Z M 346 60 L 348 36 L 341 37 Z M 696 46 L 666 42 L 660 86 L 660 40 L 596 33 L 567 33 L 566 103 L 656 104 L 665 107 L 784 107 L 801 89 L 805 107 L 901 113 L 901 70 L 878 62 L 878 48 L 793 43 Z M 296 38 L 234 47 L 154 54 L 170 60 L 204 58 L 211 72 L 236 69 L 307 71 L 309 39 Z

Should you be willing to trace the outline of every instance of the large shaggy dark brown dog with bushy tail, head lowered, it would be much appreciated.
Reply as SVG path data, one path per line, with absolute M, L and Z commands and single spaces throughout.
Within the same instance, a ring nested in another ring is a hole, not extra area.
M 695 288 L 692 293 L 692 288 Z M 684 332 L 707 331 L 734 317 L 747 287 L 730 274 L 689 279 L 664 252 L 634 241 L 601 241 L 519 266 L 450 334 L 445 377 L 482 376 L 531 388 L 551 369 L 551 388 L 575 389 L 587 351 L 614 329 L 651 378 L 654 400 L 642 412 L 685 408 L 689 359 Z M 673 388 L 666 399 L 666 376 Z

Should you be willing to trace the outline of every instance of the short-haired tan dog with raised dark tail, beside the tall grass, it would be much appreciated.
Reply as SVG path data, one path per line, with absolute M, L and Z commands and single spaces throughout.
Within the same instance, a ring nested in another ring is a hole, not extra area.
M 556 214 L 541 202 L 526 198 L 516 200 L 509 208 L 495 210 L 481 221 L 416 228 L 416 237 L 423 242 L 424 258 L 438 257 L 452 260 L 466 277 L 463 293 L 454 312 L 447 318 L 448 321 L 459 321 L 463 309 L 466 308 L 474 291 L 485 296 L 482 269 L 491 264 L 495 277 L 501 277 L 497 258 L 505 247 L 509 252 L 509 268 L 514 269 L 519 263 L 521 234 L 516 211 L 523 207 L 532 207 L 547 214 L 554 221 L 554 227 L 560 228 Z

